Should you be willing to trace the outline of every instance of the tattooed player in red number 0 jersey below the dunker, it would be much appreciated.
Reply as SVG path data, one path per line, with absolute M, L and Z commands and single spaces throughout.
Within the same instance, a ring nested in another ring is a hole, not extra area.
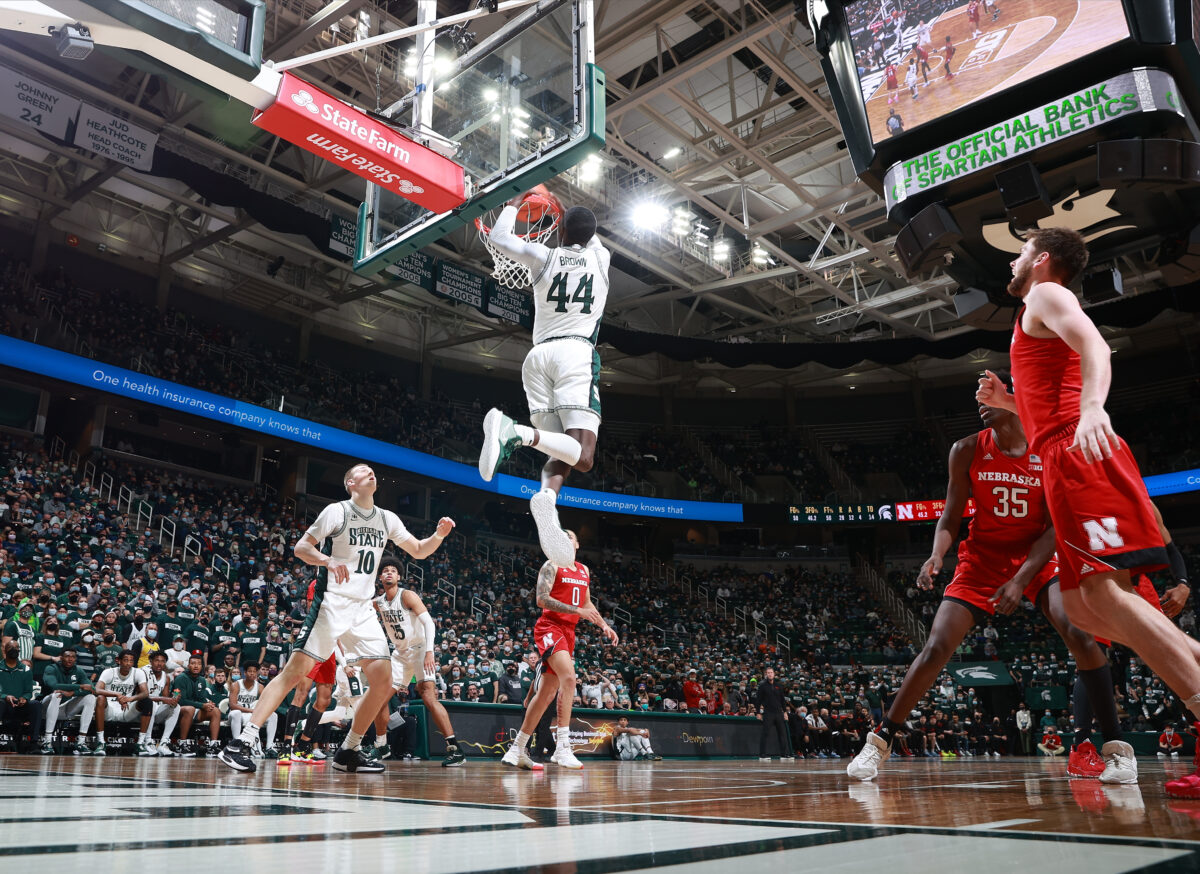
M 578 550 L 580 541 L 574 531 L 566 537 L 572 552 Z M 541 714 L 558 695 L 558 719 L 554 732 L 554 752 L 550 760 L 564 768 L 580 770 L 583 766 L 571 750 L 571 701 L 575 698 L 575 627 L 580 619 L 587 619 L 599 625 L 604 636 L 616 646 L 617 633 L 600 616 L 592 604 L 592 575 L 582 562 L 571 562 L 570 568 L 556 568 L 553 562 L 546 562 L 538 573 L 538 606 L 541 617 L 533 627 L 534 643 L 541 660 L 534 675 L 530 692 L 533 700 L 526 707 L 524 719 L 516 740 L 500 761 L 518 768 L 530 771 L 541 766 L 529 758 L 527 744 L 538 729 Z M 547 677 L 552 674 L 553 682 Z

